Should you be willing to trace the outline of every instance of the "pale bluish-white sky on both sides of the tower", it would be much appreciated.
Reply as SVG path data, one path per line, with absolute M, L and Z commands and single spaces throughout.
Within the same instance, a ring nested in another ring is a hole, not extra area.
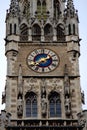
M 0 110 L 4 109 L 1 105 L 2 91 L 4 91 L 6 81 L 6 57 L 5 57 L 5 16 L 9 8 L 10 0 L 1 0 L 0 2 Z M 79 33 L 82 41 L 80 42 L 81 56 L 79 58 L 81 89 L 85 93 L 85 105 L 87 109 L 87 0 L 74 0 L 74 6 L 79 14 Z

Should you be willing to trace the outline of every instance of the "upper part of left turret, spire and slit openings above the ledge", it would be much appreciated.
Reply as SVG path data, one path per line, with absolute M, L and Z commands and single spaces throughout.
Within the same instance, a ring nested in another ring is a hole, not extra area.
M 11 0 L 10 8 L 6 14 L 6 40 L 18 41 L 19 7 L 17 0 Z M 14 37 L 12 37 L 14 35 Z M 16 37 L 15 37 L 16 36 Z

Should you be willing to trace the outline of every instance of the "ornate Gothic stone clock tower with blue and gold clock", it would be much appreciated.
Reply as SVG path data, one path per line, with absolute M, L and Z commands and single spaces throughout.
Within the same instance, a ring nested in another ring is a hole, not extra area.
M 11 0 L 6 130 L 82 129 L 77 117 L 82 111 L 78 23 L 73 0 Z

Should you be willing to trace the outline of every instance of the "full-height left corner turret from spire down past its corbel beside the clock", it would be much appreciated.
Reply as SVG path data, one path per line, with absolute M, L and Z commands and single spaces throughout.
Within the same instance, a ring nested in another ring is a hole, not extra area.
M 18 53 L 19 41 L 19 8 L 17 0 L 11 0 L 10 8 L 6 14 L 6 38 L 5 55 L 7 57 L 7 75 L 15 74 L 12 72 L 13 63 Z

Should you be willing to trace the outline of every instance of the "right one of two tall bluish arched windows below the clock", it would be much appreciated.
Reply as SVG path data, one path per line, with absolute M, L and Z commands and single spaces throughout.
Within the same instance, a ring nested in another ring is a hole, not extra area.
M 49 95 L 49 114 L 50 117 L 61 117 L 60 94 L 51 92 Z

